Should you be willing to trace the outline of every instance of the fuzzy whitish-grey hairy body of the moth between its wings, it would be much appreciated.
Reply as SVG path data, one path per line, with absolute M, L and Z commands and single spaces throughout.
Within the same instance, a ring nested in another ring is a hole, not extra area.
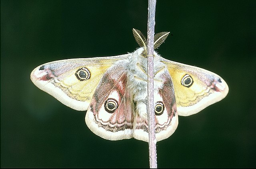
M 143 56 L 144 48 L 141 47 L 130 53 L 129 73 L 128 73 L 128 90 L 132 93 L 132 99 L 136 103 L 136 113 L 141 117 L 147 117 L 147 57 Z M 158 89 L 162 88 L 163 82 L 161 80 L 162 73 L 166 69 L 164 63 L 160 62 L 162 57 L 154 51 L 154 94 L 158 93 Z M 157 73 L 156 73 L 157 72 Z

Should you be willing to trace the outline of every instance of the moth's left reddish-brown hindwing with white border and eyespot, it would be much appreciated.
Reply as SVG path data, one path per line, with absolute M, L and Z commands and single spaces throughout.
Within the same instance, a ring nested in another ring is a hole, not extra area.
M 88 107 L 85 122 L 107 140 L 132 138 L 132 100 L 127 89 L 128 60 L 118 61 L 104 73 Z

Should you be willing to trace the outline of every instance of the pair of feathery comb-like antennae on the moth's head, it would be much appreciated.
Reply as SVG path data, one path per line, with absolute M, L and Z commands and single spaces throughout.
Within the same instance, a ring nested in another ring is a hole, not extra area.
M 143 33 L 140 30 L 134 28 L 132 28 L 132 33 L 138 45 L 146 49 L 148 42 Z M 160 47 L 160 45 L 164 43 L 169 33 L 170 32 L 160 32 L 154 35 L 154 49 L 158 49 L 158 47 Z

